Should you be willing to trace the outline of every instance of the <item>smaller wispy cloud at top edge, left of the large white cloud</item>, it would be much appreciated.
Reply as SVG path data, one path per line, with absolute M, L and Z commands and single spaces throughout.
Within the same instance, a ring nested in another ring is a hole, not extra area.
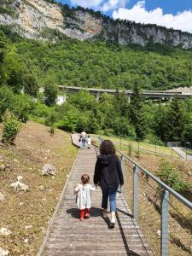
M 103 12 L 124 8 L 129 0 L 71 0 L 73 5 L 80 5 L 84 8 L 100 9 Z

